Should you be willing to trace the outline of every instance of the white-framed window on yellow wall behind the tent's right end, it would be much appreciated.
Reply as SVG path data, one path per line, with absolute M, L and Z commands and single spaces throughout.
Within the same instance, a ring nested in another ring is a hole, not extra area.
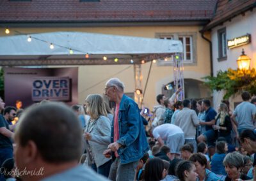
M 156 38 L 164 40 L 180 40 L 183 45 L 182 59 L 184 64 L 195 64 L 196 33 L 156 33 Z M 172 59 L 165 61 L 165 64 L 171 65 Z

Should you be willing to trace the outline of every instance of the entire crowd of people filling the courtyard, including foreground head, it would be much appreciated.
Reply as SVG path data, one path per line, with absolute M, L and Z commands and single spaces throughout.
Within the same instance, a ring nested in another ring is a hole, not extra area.
M 118 78 L 84 105 L 42 101 L 22 110 L 0 99 L 0 180 L 253 180 L 256 99 L 230 110 L 223 100 L 156 97 L 153 117 Z M 255 156 L 254 156 L 255 154 Z

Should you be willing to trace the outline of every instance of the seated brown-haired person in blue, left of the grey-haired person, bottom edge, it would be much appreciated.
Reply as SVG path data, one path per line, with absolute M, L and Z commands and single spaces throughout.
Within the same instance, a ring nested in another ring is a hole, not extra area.
M 216 181 L 220 180 L 220 177 L 206 168 L 207 160 L 204 154 L 196 153 L 189 157 L 189 161 L 192 161 L 196 166 L 196 173 L 198 174 L 197 181 Z

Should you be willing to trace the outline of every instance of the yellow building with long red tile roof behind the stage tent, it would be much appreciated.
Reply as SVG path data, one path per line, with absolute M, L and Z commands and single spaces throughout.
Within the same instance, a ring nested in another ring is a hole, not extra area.
M 184 48 L 186 98 L 210 98 L 211 91 L 202 79 L 211 75 L 210 44 L 199 31 L 211 19 L 215 4 L 216 1 L 164 0 L 4 1 L 0 7 L 0 36 L 79 31 L 180 40 Z M 6 27 L 10 34 L 4 33 Z M 204 36 L 210 39 L 211 33 Z M 170 94 L 164 87 L 174 80 L 172 60 L 158 60 L 151 69 L 150 62 L 141 64 L 141 75 L 143 105 L 152 108 L 157 104 L 157 94 Z M 120 78 L 125 92 L 134 93 L 133 64 L 79 66 L 79 103 L 83 104 L 88 94 L 102 94 L 105 80 L 111 77 Z

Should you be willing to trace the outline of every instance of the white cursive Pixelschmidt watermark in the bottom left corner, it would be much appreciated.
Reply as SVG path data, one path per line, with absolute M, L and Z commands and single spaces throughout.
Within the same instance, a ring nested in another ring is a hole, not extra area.
M 25 167 L 24 170 L 19 170 L 18 168 L 15 168 L 11 171 L 6 170 L 6 168 L 1 167 L 0 173 L 3 175 L 9 175 L 13 177 L 20 177 L 24 175 L 30 175 L 30 176 L 40 176 L 44 175 L 44 167 L 41 167 L 39 170 L 27 170 Z

